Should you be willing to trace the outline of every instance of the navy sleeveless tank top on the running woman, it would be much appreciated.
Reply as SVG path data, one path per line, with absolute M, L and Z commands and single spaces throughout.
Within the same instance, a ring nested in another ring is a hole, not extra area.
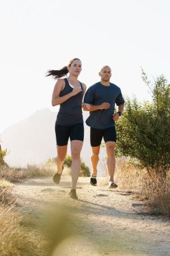
M 83 123 L 83 113 L 81 104 L 83 100 L 83 86 L 81 86 L 81 92 L 79 94 L 69 98 L 62 104 L 56 117 L 57 125 L 75 125 L 77 123 Z M 73 88 L 69 85 L 69 81 L 65 78 L 65 88 L 60 92 L 59 97 L 65 96 L 73 91 Z

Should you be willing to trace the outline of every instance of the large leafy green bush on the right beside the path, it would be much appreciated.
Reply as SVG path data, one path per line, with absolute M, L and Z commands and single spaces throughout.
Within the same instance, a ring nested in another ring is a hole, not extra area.
M 152 84 L 142 71 L 142 79 L 153 101 L 126 99 L 124 115 L 116 125 L 116 154 L 138 160 L 149 174 L 166 176 L 170 164 L 170 87 L 163 75 Z

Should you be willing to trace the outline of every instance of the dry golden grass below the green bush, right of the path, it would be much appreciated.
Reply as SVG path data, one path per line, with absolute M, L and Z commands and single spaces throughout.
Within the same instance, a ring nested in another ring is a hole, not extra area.
M 103 166 L 105 184 L 108 183 L 108 171 Z M 170 216 L 170 170 L 166 177 L 148 175 L 145 169 L 138 168 L 126 158 L 116 159 L 115 181 L 118 189 L 133 193 L 148 206 L 151 214 Z

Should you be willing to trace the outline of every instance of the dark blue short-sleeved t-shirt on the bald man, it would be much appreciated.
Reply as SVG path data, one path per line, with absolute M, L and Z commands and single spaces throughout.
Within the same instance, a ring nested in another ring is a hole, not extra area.
M 110 86 L 103 86 L 101 82 L 90 86 L 85 93 L 84 103 L 100 105 L 103 102 L 110 103 L 110 108 L 91 111 L 85 121 L 87 125 L 96 129 L 107 129 L 115 126 L 113 120 L 115 104 L 124 104 L 122 92 L 118 86 L 110 83 Z

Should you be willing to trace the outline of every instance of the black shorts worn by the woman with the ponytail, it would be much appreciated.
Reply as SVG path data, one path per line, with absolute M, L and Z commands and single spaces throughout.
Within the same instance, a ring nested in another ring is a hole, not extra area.
M 76 125 L 55 125 L 56 145 L 66 146 L 69 138 L 72 140 L 84 139 L 84 125 L 77 123 Z

